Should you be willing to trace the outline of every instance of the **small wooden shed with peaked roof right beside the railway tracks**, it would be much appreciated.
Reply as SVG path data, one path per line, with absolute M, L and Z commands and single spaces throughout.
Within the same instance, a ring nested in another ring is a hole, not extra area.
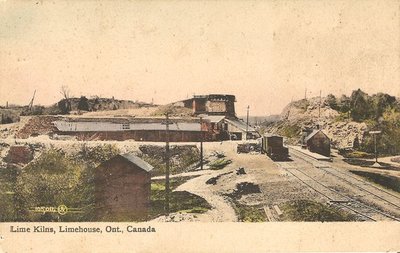
M 304 143 L 311 152 L 315 152 L 327 157 L 330 157 L 331 155 L 331 140 L 320 129 L 312 131 L 304 139 Z

